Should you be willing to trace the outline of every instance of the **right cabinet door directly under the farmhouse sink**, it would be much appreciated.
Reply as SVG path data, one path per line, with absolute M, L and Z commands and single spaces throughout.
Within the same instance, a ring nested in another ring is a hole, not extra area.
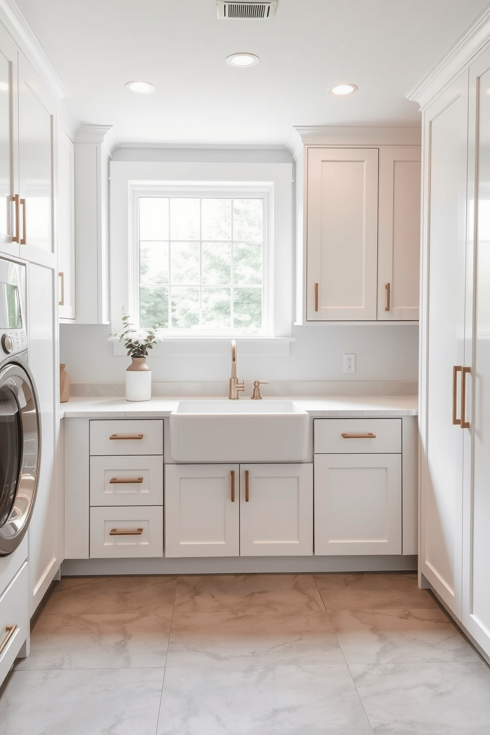
M 240 556 L 311 556 L 313 466 L 240 465 Z

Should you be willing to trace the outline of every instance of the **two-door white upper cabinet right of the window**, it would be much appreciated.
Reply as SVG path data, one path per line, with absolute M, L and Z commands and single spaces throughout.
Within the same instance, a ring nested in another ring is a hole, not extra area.
M 298 321 L 417 321 L 420 146 L 315 144 L 301 159 Z

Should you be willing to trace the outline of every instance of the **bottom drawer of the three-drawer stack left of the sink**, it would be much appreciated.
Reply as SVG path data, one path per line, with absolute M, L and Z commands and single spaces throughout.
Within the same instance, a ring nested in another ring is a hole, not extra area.
M 163 506 L 90 508 L 91 559 L 142 556 L 163 556 Z

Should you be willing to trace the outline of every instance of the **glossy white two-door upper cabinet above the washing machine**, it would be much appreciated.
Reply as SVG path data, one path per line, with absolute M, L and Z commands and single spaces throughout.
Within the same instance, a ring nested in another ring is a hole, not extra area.
M 0 34 L 1 251 L 54 267 L 54 99 Z

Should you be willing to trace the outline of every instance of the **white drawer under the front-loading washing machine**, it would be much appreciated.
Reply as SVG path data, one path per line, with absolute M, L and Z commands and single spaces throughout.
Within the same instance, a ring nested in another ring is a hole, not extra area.
M 15 626 L 12 628 L 12 626 Z M 0 597 L 0 683 L 29 636 L 29 573 L 23 564 Z

